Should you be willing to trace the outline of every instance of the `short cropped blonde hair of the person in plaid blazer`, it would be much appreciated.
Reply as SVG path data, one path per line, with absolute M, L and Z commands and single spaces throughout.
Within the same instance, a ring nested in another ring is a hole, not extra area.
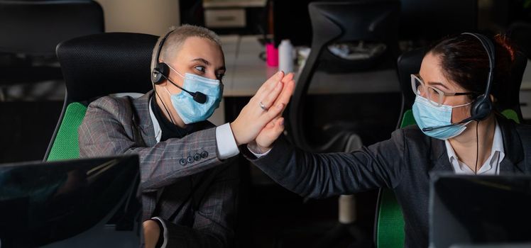
M 171 33 L 170 33 L 171 32 Z M 192 25 L 182 25 L 179 27 L 171 27 L 170 31 L 168 31 L 170 35 L 168 35 L 168 38 L 166 38 L 162 50 L 160 50 L 160 62 L 167 61 L 170 56 L 175 55 L 181 48 L 182 43 L 185 43 L 185 40 L 190 37 L 199 37 L 199 38 L 205 38 L 208 40 L 212 40 L 214 43 L 219 45 L 221 48 L 221 40 L 219 39 L 219 36 L 214 33 L 214 31 L 209 30 L 207 28 L 199 27 L 199 26 L 192 26 Z M 157 51 L 158 51 L 158 45 L 163 40 L 164 35 L 161 35 L 160 38 L 158 38 L 157 43 L 155 44 L 155 47 L 153 47 L 153 54 L 151 55 L 151 70 L 153 71 L 153 68 L 155 67 L 155 64 L 158 61 L 157 60 Z

